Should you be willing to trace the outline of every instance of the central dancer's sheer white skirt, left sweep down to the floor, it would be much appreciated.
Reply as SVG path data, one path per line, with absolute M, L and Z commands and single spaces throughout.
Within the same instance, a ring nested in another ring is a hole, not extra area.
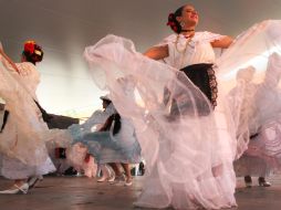
M 176 209 L 236 206 L 236 140 L 223 106 L 214 113 L 183 73 L 137 53 L 128 40 L 108 35 L 89 46 L 85 56 L 93 74 L 103 76 L 104 81 L 95 78 L 110 90 L 118 113 L 135 125 L 147 162 L 144 189 L 135 204 Z M 209 114 L 201 116 L 196 102 L 205 103 Z

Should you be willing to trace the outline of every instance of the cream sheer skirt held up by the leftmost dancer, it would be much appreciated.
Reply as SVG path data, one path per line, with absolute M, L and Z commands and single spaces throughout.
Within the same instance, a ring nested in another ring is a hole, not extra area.
M 29 166 L 46 161 L 48 127 L 40 117 L 32 96 L 0 62 L 0 97 L 9 111 L 7 125 L 0 133 L 0 153 Z

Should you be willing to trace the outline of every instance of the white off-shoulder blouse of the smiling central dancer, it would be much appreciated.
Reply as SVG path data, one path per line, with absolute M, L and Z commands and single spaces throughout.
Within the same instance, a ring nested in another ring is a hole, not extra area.
M 196 32 L 189 41 L 183 34 L 173 34 L 164 39 L 159 45 L 168 45 L 169 56 L 165 63 L 176 69 L 197 63 L 214 63 L 216 55 L 211 42 L 220 40 L 225 35 L 211 32 Z

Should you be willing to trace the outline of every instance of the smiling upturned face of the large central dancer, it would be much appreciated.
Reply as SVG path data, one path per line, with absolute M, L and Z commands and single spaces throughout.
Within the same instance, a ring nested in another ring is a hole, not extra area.
M 177 21 L 184 22 L 186 27 L 195 27 L 198 24 L 199 15 L 192 6 L 185 6 L 181 17 L 177 17 Z

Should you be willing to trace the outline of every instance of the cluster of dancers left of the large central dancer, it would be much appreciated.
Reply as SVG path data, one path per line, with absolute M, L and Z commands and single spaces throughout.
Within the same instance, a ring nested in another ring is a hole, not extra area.
M 114 181 L 124 178 L 124 185 L 131 186 L 129 164 L 139 164 L 142 159 L 140 147 L 129 119 L 118 115 L 108 96 L 101 97 L 104 112 L 95 112 L 82 125 L 79 125 L 75 118 L 46 113 L 35 95 L 40 77 L 34 65 L 42 61 L 42 48 L 34 41 L 24 43 L 22 62 L 19 64 L 14 64 L 1 50 L 1 81 L 3 81 L 1 97 L 6 102 L 4 105 L 1 104 L 4 107 L 1 112 L 3 113 L 1 175 L 13 179 L 14 185 L 0 193 L 27 193 L 42 179 L 42 175 L 53 172 L 58 167 L 61 167 L 60 158 L 66 157 L 64 165 L 74 166 L 89 177 L 96 176 L 96 165 L 98 165 L 103 174 L 98 181 L 105 179 Z M 10 83 L 13 83 L 14 86 L 10 86 Z M 19 104 L 21 107 L 18 107 Z M 25 106 L 31 105 L 32 107 L 25 109 Z M 20 111 L 15 113 L 13 108 Z M 31 108 L 32 111 L 30 111 Z M 28 123 L 24 125 L 24 122 L 21 122 L 24 120 L 24 117 L 30 120 L 28 122 L 30 125 Z M 35 117 L 35 119 L 31 117 Z M 25 126 L 24 130 L 22 130 L 22 126 Z M 94 126 L 100 126 L 100 128 L 93 132 Z M 29 140 L 29 138 L 33 138 L 30 136 L 32 133 L 38 135 L 38 139 L 32 139 L 37 140 L 35 144 Z M 86 144 L 87 139 L 91 141 L 89 145 Z M 75 141 L 81 141 L 83 145 L 75 144 Z M 89 149 L 85 149 L 85 146 Z M 32 147 L 32 150 L 29 150 L 29 147 Z M 31 151 L 34 153 L 33 156 L 31 156 Z M 61 156 L 62 153 L 64 153 L 64 157 Z M 44 159 L 45 157 L 46 159 Z M 43 161 L 41 162 L 41 159 L 38 158 L 42 158 Z M 106 164 L 114 171 L 111 171 Z M 118 165 L 124 168 L 124 177 Z

